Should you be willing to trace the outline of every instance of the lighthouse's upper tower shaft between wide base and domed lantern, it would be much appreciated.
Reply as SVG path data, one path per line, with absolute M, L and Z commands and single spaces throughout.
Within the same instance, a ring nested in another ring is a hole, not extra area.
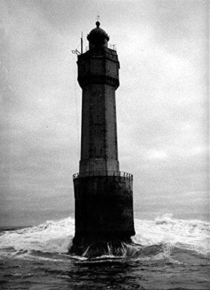
M 116 89 L 120 64 L 115 50 L 89 50 L 78 56 L 83 88 L 80 174 L 119 172 Z

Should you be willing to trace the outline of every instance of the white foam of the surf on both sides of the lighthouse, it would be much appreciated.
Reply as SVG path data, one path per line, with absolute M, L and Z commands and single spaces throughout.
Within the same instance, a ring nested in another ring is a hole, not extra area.
M 153 221 L 135 220 L 134 242 L 142 246 L 166 244 L 167 247 L 191 249 L 207 254 L 209 226 L 205 221 L 173 219 L 171 215 L 159 216 Z M 1 254 L 24 254 L 31 251 L 66 253 L 74 235 L 74 219 L 46 221 L 39 226 L 6 231 L 0 236 Z M 11 252 L 8 249 L 13 248 Z

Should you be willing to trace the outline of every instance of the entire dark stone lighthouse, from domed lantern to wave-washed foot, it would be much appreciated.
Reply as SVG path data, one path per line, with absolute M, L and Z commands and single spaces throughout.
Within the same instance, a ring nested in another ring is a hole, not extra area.
M 116 89 L 120 64 L 100 23 L 87 35 L 89 50 L 78 55 L 83 90 L 79 173 L 73 174 L 75 236 L 71 254 L 122 253 L 134 232 L 132 174 L 120 172 Z

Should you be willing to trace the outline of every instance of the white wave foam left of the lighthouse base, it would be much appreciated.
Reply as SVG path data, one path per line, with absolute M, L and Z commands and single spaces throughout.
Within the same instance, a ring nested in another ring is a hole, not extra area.
M 73 237 L 74 219 L 71 217 L 62 221 L 46 221 L 31 228 L 6 231 L 0 237 L 1 251 L 8 248 L 21 251 L 41 251 L 50 253 L 64 253 Z

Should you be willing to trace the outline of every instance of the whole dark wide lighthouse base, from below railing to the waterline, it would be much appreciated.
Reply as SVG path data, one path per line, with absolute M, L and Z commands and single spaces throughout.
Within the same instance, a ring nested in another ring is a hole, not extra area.
M 132 179 L 97 176 L 73 179 L 75 237 L 70 254 L 123 254 L 123 243 L 135 235 Z

